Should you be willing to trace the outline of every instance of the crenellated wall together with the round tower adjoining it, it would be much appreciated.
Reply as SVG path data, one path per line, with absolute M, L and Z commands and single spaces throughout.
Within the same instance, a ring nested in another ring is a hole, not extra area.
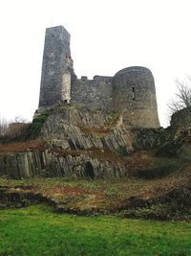
M 116 111 L 124 124 L 132 127 L 159 128 L 155 81 L 144 67 L 125 68 L 112 77 L 82 77 L 72 84 L 75 105 L 90 109 Z

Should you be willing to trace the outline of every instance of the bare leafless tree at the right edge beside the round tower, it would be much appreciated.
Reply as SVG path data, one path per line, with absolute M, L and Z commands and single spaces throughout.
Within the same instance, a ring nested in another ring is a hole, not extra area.
M 168 104 L 170 114 L 175 113 L 181 108 L 191 106 L 191 78 L 188 77 L 188 81 L 176 80 L 178 92 L 175 94 L 175 99 L 171 100 Z

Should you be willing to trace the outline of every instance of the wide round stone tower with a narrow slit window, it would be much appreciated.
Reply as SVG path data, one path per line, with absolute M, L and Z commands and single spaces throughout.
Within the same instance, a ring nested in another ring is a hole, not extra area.
M 120 70 L 113 79 L 114 109 L 132 127 L 159 128 L 155 81 L 151 71 L 133 66 Z

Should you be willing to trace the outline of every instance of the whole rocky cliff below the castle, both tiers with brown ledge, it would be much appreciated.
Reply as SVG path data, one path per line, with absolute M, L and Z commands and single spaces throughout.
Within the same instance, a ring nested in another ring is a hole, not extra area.
M 0 147 L 0 175 L 107 179 L 158 172 L 161 166 L 154 167 L 150 156 L 156 163 L 157 157 L 190 157 L 188 128 L 177 130 L 175 124 L 131 128 L 117 113 L 56 105 L 33 119 L 21 136 L 28 141 Z M 35 136 L 38 140 L 29 140 Z M 162 166 L 166 170 L 165 161 Z

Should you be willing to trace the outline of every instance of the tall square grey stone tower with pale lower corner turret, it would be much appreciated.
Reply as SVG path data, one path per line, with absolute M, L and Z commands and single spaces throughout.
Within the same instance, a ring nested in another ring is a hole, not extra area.
M 46 29 L 39 110 L 70 102 L 71 76 L 74 74 L 70 34 L 63 26 Z

